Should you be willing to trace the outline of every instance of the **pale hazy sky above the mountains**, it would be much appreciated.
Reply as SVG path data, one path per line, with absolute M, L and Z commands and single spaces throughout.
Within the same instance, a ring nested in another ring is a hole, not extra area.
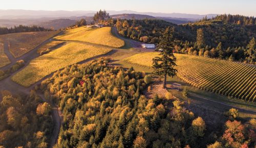
M 256 16 L 256 0 L 2 0 L 0 9 L 134 10 L 139 12 Z

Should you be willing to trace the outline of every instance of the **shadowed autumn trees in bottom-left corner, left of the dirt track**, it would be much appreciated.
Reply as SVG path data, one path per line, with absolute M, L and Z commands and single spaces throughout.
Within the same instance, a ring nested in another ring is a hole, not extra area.
M 51 106 L 31 91 L 28 97 L 3 91 L 0 147 L 48 147 L 53 131 Z

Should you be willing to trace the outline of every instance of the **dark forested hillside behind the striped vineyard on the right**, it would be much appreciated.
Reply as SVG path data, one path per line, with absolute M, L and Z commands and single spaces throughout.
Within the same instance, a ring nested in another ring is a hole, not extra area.
M 240 24 L 237 23 L 240 21 Z M 247 24 L 248 25 L 242 25 Z M 253 23 L 250 23 L 253 22 Z M 255 18 L 240 15 L 220 15 L 195 23 L 175 25 L 156 19 L 109 20 L 118 32 L 134 40 L 158 44 L 167 27 L 172 27 L 177 53 L 236 60 L 254 64 L 256 59 Z M 201 38 L 198 38 L 201 36 Z M 200 39 L 200 40 L 198 40 Z M 201 42 L 201 43 L 198 43 Z M 250 45 L 249 45 L 250 43 Z M 198 46 L 198 44 L 201 44 Z M 248 51 L 250 50 L 250 51 Z

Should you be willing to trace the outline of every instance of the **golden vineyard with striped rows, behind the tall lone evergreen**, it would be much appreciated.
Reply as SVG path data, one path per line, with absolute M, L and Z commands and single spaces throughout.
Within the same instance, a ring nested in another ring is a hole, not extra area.
M 159 53 L 142 53 L 124 61 L 152 66 L 152 59 Z M 211 92 L 233 98 L 256 101 L 256 68 L 253 66 L 204 58 L 199 56 L 175 54 L 177 57 L 177 76 L 187 83 Z

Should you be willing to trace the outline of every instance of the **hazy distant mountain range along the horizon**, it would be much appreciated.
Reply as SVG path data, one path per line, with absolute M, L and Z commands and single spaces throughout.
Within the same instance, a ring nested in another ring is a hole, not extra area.
M 108 11 L 112 18 L 119 19 L 163 19 L 172 23 L 182 24 L 199 20 L 207 15 L 217 14 L 185 14 L 185 13 L 153 13 L 130 10 Z M 96 11 L 44 11 L 44 10 L 0 10 L 0 27 L 13 27 L 19 24 L 42 26 L 45 28 L 66 28 L 75 21 L 85 18 L 88 23 L 93 21 Z

